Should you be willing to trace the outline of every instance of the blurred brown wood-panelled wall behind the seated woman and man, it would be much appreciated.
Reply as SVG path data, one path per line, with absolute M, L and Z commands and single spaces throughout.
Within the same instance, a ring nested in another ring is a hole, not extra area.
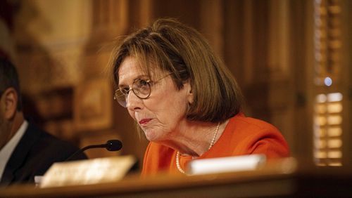
M 118 37 L 168 17 L 208 39 L 246 114 L 277 126 L 294 157 L 351 164 L 352 1 L 4 0 L 0 11 L 0 54 L 18 67 L 27 118 L 80 147 L 118 138 L 118 154 L 142 161 L 146 139 L 113 101 L 108 60 Z

